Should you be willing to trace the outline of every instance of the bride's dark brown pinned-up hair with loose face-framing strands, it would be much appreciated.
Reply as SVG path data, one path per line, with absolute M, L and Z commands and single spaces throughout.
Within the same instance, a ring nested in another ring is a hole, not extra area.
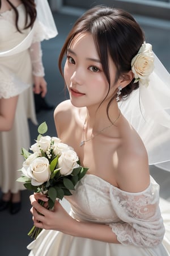
M 109 93 L 111 81 L 108 55 L 111 56 L 117 68 L 116 81 L 120 77 L 125 77 L 126 73 L 131 70 L 131 60 L 144 42 L 143 31 L 133 16 L 124 10 L 103 5 L 93 7 L 75 22 L 61 49 L 58 65 L 62 76 L 62 60 L 67 48 L 75 36 L 82 32 L 90 32 L 94 38 L 101 65 L 108 80 Z M 126 98 L 138 86 L 138 82 L 134 84 L 133 79 L 129 85 L 122 89 L 120 98 Z M 108 108 L 115 97 L 116 95 L 113 95 Z

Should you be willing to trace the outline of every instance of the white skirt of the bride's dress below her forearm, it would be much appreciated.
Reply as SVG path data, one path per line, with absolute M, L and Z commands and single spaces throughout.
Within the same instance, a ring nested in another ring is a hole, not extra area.
M 29 256 L 168 256 L 170 255 L 170 203 L 160 199 L 165 225 L 163 243 L 156 247 L 137 247 L 73 237 L 54 230 L 42 230 L 27 246 Z

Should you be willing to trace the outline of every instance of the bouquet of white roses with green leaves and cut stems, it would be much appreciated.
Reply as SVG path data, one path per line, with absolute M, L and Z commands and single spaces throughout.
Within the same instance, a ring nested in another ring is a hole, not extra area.
M 29 190 L 46 195 L 49 198 L 48 209 L 52 209 L 56 199 L 72 195 L 70 190 L 75 189 L 88 168 L 80 166 L 76 152 L 59 138 L 42 136 L 47 130 L 45 122 L 38 127 L 39 136 L 30 147 L 32 153 L 22 148 L 25 161 L 17 181 L 23 182 Z M 41 200 L 39 203 L 44 205 Z M 40 228 L 33 226 L 28 236 L 36 239 L 40 232 Z

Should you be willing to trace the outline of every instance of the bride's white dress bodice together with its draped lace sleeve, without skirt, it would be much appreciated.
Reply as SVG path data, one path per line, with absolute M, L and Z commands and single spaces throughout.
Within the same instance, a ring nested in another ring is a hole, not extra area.
M 76 220 L 108 224 L 125 245 L 156 246 L 163 240 L 159 185 L 152 177 L 145 191 L 131 193 L 98 176 L 85 175 L 72 192 L 67 200 Z

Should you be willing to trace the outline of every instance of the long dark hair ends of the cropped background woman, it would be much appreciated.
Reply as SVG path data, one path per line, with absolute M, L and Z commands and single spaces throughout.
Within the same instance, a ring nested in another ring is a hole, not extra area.
M 15 15 L 16 15 L 16 19 L 15 19 L 15 26 L 16 29 L 20 31 L 19 27 L 18 27 L 18 19 L 19 19 L 19 14 L 18 14 L 18 10 L 17 8 L 10 2 L 10 0 L 6 0 L 9 5 L 12 7 L 12 9 L 14 9 L 15 11 Z M 43 0 L 42 0 L 43 1 Z M 22 3 L 25 7 L 25 11 L 26 11 L 26 18 L 25 18 L 25 29 L 28 27 L 32 27 L 33 23 L 35 22 L 36 19 L 36 5 L 35 5 L 35 1 L 34 0 L 22 0 Z M 1 0 L 0 0 L 0 9 L 1 9 Z M 28 16 L 30 18 L 29 22 L 28 22 Z

